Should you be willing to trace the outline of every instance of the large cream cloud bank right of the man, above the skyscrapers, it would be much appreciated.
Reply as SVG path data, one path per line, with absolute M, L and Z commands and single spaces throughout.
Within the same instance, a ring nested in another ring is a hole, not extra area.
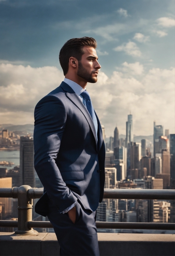
M 135 67 L 137 65 L 142 67 L 141 64 L 135 64 Z M 134 67 L 128 63 L 122 66 L 128 69 Z M 152 68 L 139 81 L 127 70 L 125 73 L 114 71 L 110 78 L 100 72 L 98 82 L 88 84 L 86 89 L 106 134 L 113 134 L 116 122 L 119 133 L 125 134 L 125 122 L 130 110 L 134 134 L 151 135 L 154 120 L 174 133 L 174 75 L 174 68 Z

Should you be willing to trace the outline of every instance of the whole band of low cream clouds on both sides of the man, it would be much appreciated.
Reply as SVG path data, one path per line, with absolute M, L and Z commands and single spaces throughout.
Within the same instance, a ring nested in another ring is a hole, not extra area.
M 139 62 L 124 62 L 120 68 L 111 77 L 100 71 L 98 82 L 86 86 L 106 134 L 113 134 L 116 122 L 120 134 L 125 134 L 130 110 L 134 134 L 152 134 L 154 119 L 173 133 L 174 69 L 152 68 L 144 72 Z M 1 123 L 33 123 L 35 105 L 58 87 L 63 78 L 63 73 L 56 67 L 1 64 Z

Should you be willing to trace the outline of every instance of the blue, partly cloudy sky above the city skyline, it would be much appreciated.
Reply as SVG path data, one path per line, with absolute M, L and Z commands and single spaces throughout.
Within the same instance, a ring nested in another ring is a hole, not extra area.
M 88 83 L 107 136 L 175 129 L 174 0 L 0 0 L 0 123 L 33 124 L 37 102 L 63 81 L 59 51 L 93 37 L 101 65 Z

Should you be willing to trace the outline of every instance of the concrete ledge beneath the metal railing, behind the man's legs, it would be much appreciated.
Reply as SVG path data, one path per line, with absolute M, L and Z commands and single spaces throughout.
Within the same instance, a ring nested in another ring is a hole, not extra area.
M 174 256 L 174 234 L 117 234 L 98 233 L 100 255 L 117 256 Z M 55 233 L 38 236 L 16 236 L 0 232 L 0 255 L 55 256 L 59 244 Z

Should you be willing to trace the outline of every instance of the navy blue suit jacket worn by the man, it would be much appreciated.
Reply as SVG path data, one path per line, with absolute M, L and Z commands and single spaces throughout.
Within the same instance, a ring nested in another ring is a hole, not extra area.
M 44 186 L 35 211 L 46 216 L 48 199 L 60 213 L 77 200 L 95 211 L 105 182 L 105 145 L 97 115 L 98 142 L 88 110 L 62 82 L 37 103 L 34 117 L 34 167 Z

